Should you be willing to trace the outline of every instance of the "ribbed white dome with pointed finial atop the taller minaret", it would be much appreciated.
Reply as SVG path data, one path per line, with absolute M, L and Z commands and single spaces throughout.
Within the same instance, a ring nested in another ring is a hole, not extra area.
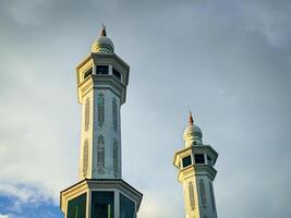
M 100 53 L 113 53 L 114 46 L 112 40 L 107 37 L 106 26 L 102 26 L 101 34 L 99 38 L 97 38 L 92 45 L 92 52 L 100 52 Z

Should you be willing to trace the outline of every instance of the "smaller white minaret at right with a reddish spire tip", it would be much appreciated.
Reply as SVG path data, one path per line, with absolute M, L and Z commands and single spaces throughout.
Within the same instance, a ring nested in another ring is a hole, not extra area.
M 217 218 L 213 181 L 217 152 L 202 142 L 202 131 L 190 113 L 184 131 L 184 148 L 175 152 L 173 165 L 183 185 L 186 218 Z

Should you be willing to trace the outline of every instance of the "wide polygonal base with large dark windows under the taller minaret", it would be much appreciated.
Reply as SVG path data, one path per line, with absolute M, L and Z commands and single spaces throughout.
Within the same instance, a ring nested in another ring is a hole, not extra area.
M 60 193 L 65 218 L 136 218 L 143 194 L 121 179 L 85 179 Z

